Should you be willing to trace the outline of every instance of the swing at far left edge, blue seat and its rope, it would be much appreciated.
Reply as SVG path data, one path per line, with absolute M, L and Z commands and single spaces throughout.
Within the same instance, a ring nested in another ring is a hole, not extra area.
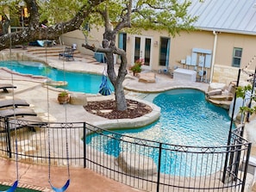
M 11 35 L 9 34 L 9 59 L 10 59 L 10 62 L 11 62 L 11 67 L 12 67 L 12 61 L 11 61 Z M 11 72 L 11 84 L 14 84 L 14 80 L 13 80 L 13 73 Z M 15 97 L 15 94 L 14 94 L 14 88 L 12 88 L 12 102 L 13 102 L 13 111 L 14 111 L 14 119 L 16 120 L 16 111 L 15 111 L 15 101 L 14 101 L 14 97 Z M 9 132 L 9 130 L 6 130 L 6 132 Z M 16 182 L 12 184 L 12 186 L 5 190 L 5 191 L 1 191 L 1 192 L 14 192 L 16 190 L 16 188 L 18 187 L 18 181 L 19 181 L 19 167 L 18 167 L 18 142 L 17 142 L 17 129 L 15 127 L 15 137 L 16 137 Z

